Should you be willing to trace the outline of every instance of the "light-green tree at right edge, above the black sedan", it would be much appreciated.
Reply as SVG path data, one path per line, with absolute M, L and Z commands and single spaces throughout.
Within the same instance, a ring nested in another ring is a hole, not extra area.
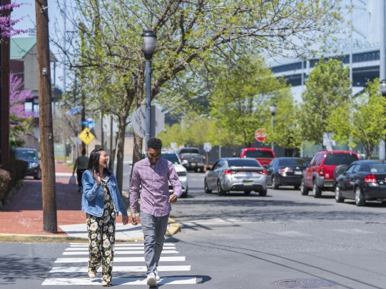
M 370 159 L 374 146 L 385 137 L 386 99 L 380 93 L 380 80 L 369 81 L 365 93 L 350 97 L 332 111 L 327 119 L 327 129 L 334 133 L 338 143 L 348 143 L 351 148 L 360 141 Z

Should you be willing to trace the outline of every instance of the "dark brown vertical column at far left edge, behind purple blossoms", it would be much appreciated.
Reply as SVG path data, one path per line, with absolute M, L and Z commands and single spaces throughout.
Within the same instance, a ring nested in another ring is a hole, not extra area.
M 1 5 L 10 4 L 11 0 L 0 1 Z M 2 16 L 8 16 L 9 10 L 3 10 Z M 1 111 L 0 111 L 0 163 L 9 162 L 9 38 L 0 44 L 0 75 L 1 75 Z

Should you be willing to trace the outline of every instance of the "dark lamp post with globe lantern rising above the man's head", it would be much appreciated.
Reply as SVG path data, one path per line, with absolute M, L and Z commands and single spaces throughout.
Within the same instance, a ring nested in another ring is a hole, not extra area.
M 146 59 L 145 83 L 146 83 L 146 148 L 151 138 L 151 58 L 156 50 L 157 36 L 153 31 L 146 30 L 142 34 L 144 44 L 142 52 Z

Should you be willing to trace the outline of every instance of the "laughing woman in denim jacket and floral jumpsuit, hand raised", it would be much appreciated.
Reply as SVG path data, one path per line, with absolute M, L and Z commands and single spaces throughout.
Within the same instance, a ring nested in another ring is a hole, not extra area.
M 112 270 L 116 216 L 121 212 L 122 223 L 128 214 L 113 172 L 107 169 L 108 156 L 102 148 L 91 151 L 87 170 L 83 173 L 82 211 L 86 213 L 88 230 L 88 276 L 96 278 L 102 265 L 102 286 L 113 285 Z

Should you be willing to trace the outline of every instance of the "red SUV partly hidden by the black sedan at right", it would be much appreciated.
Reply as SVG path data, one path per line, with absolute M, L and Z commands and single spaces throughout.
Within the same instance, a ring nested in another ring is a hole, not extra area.
M 354 161 L 359 157 L 353 151 L 319 151 L 303 171 L 300 192 L 313 190 L 314 198 L 320 198 L 322 191 L 334 191 L 335 179 Z

